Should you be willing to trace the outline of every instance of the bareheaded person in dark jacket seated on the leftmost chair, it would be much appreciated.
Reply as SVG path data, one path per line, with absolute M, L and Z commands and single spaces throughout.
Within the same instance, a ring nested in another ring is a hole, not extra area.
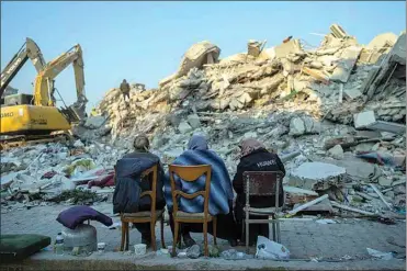
M 133 143 L 134 151 L 125 155 L 116 163 L 116 187 L 113 195 L 114 213 L 136 213 L 151 210 L 150 196 L 135 197 L 135 194 L 151 190 L 152 173 L 149 180 L 140 180 L 140 174 L 146 169 L 158 165 L 156 210 L 166 206 L 163 197 L 165 172 L 160 159 L 148 151 L 149 142 L 146 136 L 137 136 Z M 147 178 L 147 177 L 145 177 Z M 142 242 L 150 246 L 151 233 L 149 223 L 134 225 L 142 234 Z

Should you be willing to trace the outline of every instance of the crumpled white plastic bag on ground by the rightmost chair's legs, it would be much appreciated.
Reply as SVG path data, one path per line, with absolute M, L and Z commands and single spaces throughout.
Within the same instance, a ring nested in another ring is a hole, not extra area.
M 263 236 L 258 236 L 256 258 L 269 260 L 287 260 L 290 259 L 290 250 L 279 242 L 269 240 Z

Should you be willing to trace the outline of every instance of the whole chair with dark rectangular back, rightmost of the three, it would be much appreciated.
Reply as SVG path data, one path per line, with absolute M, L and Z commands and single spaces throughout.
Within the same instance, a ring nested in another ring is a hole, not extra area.
M 242 223 L 245 233 L 246 225 L 246 250 L 249 252 L 249 225 L 250 224 L 270 224 L 273 225 L 273 240 L 276 242 L 281 241 L 280 236 L 280 221 L 278 213 L 279 207 L 279 195 L 280 195 L 280 182 L 283 174 L 281 171 L 245 171 L 244 180 L 246 185 L 244 187 L 246 193 L 246 206 L 245 206 L 245 223 Z M 255 208 L 250 207 L 250 196 L 264 196 L 275 195 L 275 207 L 268 208 Z M 268 215 L 269 219 L 250 219 L 249 215 Z M 271 219 L 270 219 L 271 218 Z

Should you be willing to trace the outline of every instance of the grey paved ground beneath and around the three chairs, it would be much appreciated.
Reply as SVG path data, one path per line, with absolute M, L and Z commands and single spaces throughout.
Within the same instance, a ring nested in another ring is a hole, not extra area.
M 54 206 L 37 206 L 31 210 L 26 208 L 13 208 L 7 211 L 2 207 L 2 215 L 1 215 L 1 234 L 43 234 L 50 236 L 53 239 L 55 238 L 56 234 L 61 230 L 63 226 L 56 222 L 56 217 L 60 211 L 67 208 L 69 206 L 64 205 L 54 205 Z M 95 210 L 112 216 L 112 205 L 108 203 L 99 204 L 93 206 Z M 114 222 L 118 222 L 117 216 L 113 216 Z M 371 222 L 366 219 L 355 219 L 355 218 L 339 218 L 336 219 L 338 224 L 328 224 L 321 225 L 315 222 L 284 222 L 281 226 L 282 232 L 282 244 L 286 246 L 291 251 L 291 259 L 292 260 L 318 260 L 319 262 L 317 266 L 313 266 L 309 268 L 317 268 L 323 267 L 324 264 L 326 268 L 335 264 L 332 267 L 337 268 L 344 268 L 348 266 L 343 266 L 347 262 L 352 266 L 354 264 L 362 264 L 361 267 L 368 269 L 383 269 L 384 267 L 393 267 L 398 269 L 405 266 L 405 248 L 402 248 L 396 245 L 392 245 L 388 242 L 389 238 L 394 238 L 396 242 L 400 246 L 406 245 L 406 224 L 405 221 L 398 221 L 396 225 L 384 225 L 377 222 Z M 104 241 L 108 244 L 106 251 L 103 256 L 100 255 L 92 255 L 91 257 L 84 258 L 92 262 L 92 260 L 118 260 L 124 263 L 132 262 L 134 260 L 134 256 L 123 255 L 122 252 L 113 252 L 117 250 L 121 240 L 121 233 L 118 229 L 108 229 L 102 224 L 98 222 L 92 222 L 92 225 L 98 230 L 98 241 Z M 159 239 L 159 228 L 157 224 L 157 239 Z M 193 234 L 193 238 L 197 242 L 202 242 L 202 235 Z M 165 239 L 167 245 L 172 245 L 171 239 L 171 232 L 170 227 L 166 226 L 165 230 Z M 138 244 L 140 241 L 140 234 L 133 229 L 131 232 L 131 247 L 133 245 Z M 212 238 L 210 238 L 212 242 Z M 159 242 L 157 242 L 159 244 Z M 222 249 L 227 249 L 228 245 L 226 240 L 219 240 L 219 245 Z M 375 260 L 372 263 L 371 257 L 368 255 L 366 248 L 373 248 L 380 251 L 395 251 L 398 253 L 399 258 L 404 257 L 404 260 L 395 260 L 396 266 L 392 266 L 391 262 L 388 264 L 382 264 L 383 260 Z M 244 250 L 244 248 L 238 248 L 238 250 Z M 68 260 L 69 262 L 75 262 L 76 259 L 82 260 L 83 258 L 75 258 L 71 256 L 61 256 L 56 257 L 49 251 L 43 251 L 41 253 L 35 255 L 32 257 L 34 260 Z M 201 260 L 202 259 L 202 260 Z M 267 267 L 279 267 L 275 266 L 278 262 L 271 261 L 261 261 L 261 260 L 245 260 L 231 262 L 226 260 L 219 259 L 211 259 L 205 260 L 201 258 L 196 260 L 196 264 L 201 261 L 206 261 L 205 268 L 210 268 L 211 264 L 221 264 L 219 267 L 226 268 L 262 268 L 264 264 Z M 74 260 L 74 261 L 71 261 Z M 185 261 L 186 264 L 192 264 L 194 268 L 197 266 L 192 260 L 181 260 Z M 162 266 L 176 268 L 180 264 L 180 260 L 170 259 L 169 256 L 156 256 L 152 252 L 148 253 L 146 257 L 143 258 L 143 261 L 137 260 L 137 264 L 146 264 L 146 266 Z M 244 263 L 245 262 L 245 263 Z M 251 263 L 249 263 L 251 262 Z M 297 262 L 297 261 L 293 261 Z M 293 262 L 285 262 L 284 264 L 290 266 L 294 264 Z M 323 264 L 323 262 L 325 262 Z M 299 264 L 299 262 L 297 262 Z M 304 263 L 304 262 L 303 262 Z M 315 264 L 307 263 L 307 264 Z M 52 267 L 52 262 L 49 262 L 49 267 Z M 131 264 L 131 263 L 128 263 Z M 166 266 L 168 264 L 168 266 Z M 226 264 L 226 266 L 224 266 Z M 271 266 L 270 266 L 271 264 Z M 283 263 L 281 263 L 283 264 Z M 285 267 L 285 266 L 281 267 Z M 318 266 L 323 264 L 323 266 Z M 338 266 L 339 264 L 339 266 Z M 357 264 L 357 266 L 358 266 Z M 295 264 L 294 264 L 295 266 Z M 302 264 L 299 264 L 302 266 Z M 357 266 L 354 266 L 354 270 L 358 270 Z M 74 267 L 74 266 L 71 266 Z M 201 269 L 203 266 L 199 264 Z M 305 267 L 305 266 L 302 266 Z M 380 268 L 382 267 L 382 268 Z M 397 268 L 398 267 L 398 268 Z M 214 267 L 215 268 L 215 267 Z M 97 269 L 93 267 L 93 269 Z M 400 270 L 403 270 L 402 268 Z

